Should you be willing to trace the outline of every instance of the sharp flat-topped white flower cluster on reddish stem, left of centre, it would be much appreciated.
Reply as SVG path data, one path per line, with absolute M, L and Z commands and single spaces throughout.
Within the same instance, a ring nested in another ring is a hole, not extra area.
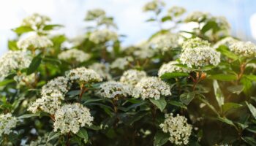
M 95 72 L 93 69 L 86 69 L 85 67 L 72 69 L 69 72 L 67 72 L 66 76 L 72 82 L 77 81 L 81 84 L 102 81 L 102 77 L 100 77 L 100 75 L 97 74 L 97 72 Z

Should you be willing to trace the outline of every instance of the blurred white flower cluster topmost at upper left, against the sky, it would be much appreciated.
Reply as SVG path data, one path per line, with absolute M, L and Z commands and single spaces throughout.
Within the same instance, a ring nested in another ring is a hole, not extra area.
M 43 26 L 48 22 L 50 22 L 50 18 L 47 16 L 34 13 L 33 15 L 24 18 L 22 20 L 21 26 L 29 26 L 36 29 L 38 26 Z

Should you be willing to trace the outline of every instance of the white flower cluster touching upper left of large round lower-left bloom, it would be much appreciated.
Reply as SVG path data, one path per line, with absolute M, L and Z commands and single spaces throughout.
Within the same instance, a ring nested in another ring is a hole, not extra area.
M 53 115 L 61 107 L 61 100 L 63 99 L 64 95 L 61 91 L 49 89 L 48 93 L 44 93 L 40 99 L 34 101 L 28 110 L 32 113 L 43 111 Z

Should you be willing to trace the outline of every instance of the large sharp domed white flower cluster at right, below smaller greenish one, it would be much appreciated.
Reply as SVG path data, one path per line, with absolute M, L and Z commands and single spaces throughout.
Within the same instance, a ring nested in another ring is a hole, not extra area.
M 180 60 L 189 67 L 217 66 L 220 62 L 220 53 L 211 47 L 187 48 L 181 53 Z

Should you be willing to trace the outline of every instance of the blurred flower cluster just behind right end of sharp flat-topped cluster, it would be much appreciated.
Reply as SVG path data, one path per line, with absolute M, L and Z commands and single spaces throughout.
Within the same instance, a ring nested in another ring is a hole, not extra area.
M 101 63 L 94 63 L 91 64 L 91 66 L 88 67 L 89 69 L 93 69 L 95 72 L 97 72 L 100 77 L 102 77 L 105 80 L 112 79 L 109 71 L 109 66 L 107 64 L 101 64 Z

